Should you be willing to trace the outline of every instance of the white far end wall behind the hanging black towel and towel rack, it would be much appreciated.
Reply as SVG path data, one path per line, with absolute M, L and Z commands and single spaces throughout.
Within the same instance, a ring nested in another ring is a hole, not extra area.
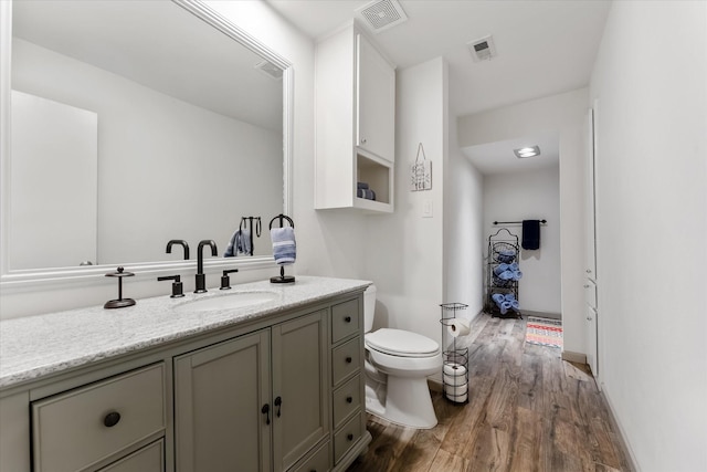
M 498 174 L 484 178 L 484 228 L 495 234 L 503 225 L 494 221 L 546 219 L 540 227 L 540 249 L 520 250 L 518 264 L 523 279 L 518 283 L 521 310 L 559 314 L 560 296 L 560 169 L 552 166 L 523 174 Z M 523 241 L 519 224 L 507 225 Z M 505 234 L 505 232 L 502 232 Z

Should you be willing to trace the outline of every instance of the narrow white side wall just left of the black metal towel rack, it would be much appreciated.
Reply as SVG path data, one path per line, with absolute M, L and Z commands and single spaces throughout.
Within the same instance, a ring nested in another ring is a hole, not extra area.
M 449 162 L 444 179 L 444 302 L 468 305 L 472 318 L 484 304 L 484 177 L 460 150 L 456 118 L 449 120 Z

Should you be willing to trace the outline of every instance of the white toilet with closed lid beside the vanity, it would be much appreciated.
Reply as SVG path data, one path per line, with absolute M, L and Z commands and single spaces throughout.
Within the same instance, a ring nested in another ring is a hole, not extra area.
M 366 410 L 395 424 L 429 429 L 437 418 L 426 377 L 442 369 L 440 345 L 429 337 L 381 328 L 371 333 L 376 286 L 363 294 Z

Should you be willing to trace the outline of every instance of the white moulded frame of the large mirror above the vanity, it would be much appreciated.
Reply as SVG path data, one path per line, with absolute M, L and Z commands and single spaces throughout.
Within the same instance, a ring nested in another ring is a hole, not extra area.
M 171 0 L 176 6 L 192 13 L 196 20 L 204 21 L 232 40 L 250 49 L 256 54 L 266 59 L 271 63 L 283 70 L 283 212 L 292 216 L 292 154 L 293 154 L 293 91 L 294 71 L 292 64 L 265 46 L 258 40 L 233 24 L 230 20 L 208 7 L 201 0 Z M 12 1 L 0 1 L 0 177 L 2 188 L 9 186 L 10 170 L 10 129 L 11 109 L 9 104 L 11 94 L 11 66 L 12 66 Z M 2 198 L 0 208 L 0 289 L 36 289 L 51 284 L 78 284 L 88 280 L 103 280 L 107 272 L 113 272 L 117 264 L 57 268 L 40 270 L 17 270 L 9 271 L 8 258 L 8 234 L 7 230 L 10 203 L 7 198 Z M 273 216 L 275 217 L 275 216 Z M 267 217 L 266 217 L 267 218 Z M 167 243 L 167 242 L 165 242 Z M 196 250 L 196 247 L 194 247 Z M 218 270 L 222 266 L 240 270 L 267 269 L 276 266 L 272 255 L 250 256 L 250 258 L 207 258 L 204 269 Z M 166 272 L 189 273 L 196 270 L 194 260 L 189 261 L 159 261 L 140 262 L 123 265 L 127 271 L 134 272 L 138 276 L 155 276 L 155 274 Z M 98 279 L 101 277 L 101 279 Z

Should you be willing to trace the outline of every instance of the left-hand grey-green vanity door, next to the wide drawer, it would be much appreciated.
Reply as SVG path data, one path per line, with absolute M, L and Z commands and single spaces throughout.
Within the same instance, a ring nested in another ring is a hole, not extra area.
M 175 359 L 177 471 L 270 471 L 270 331 Z

